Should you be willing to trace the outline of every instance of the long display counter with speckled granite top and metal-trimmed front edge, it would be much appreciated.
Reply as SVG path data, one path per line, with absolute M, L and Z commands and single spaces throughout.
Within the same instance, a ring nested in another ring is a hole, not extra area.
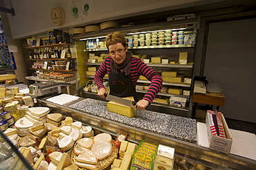
M 202 164 L 212 169 L 255 169 L 254 160 L 218 153 L 196 145 L 196 120 L 154 111 L 138 111 L 135 118 L 127 118 L 107 110 L 106 102 L 91 98 L 79 98 L 66 105 L 38 99 L 39 105 L 50 107 L 66 116 L 79 120 L 84 125 L 117 136 L 125 131 L 127 140 L 141 140 L 175 148 L 176 157 Z

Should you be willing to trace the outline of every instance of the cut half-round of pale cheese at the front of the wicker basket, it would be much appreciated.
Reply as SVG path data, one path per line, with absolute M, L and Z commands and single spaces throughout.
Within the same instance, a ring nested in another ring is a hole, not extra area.
M 77 162 L 82 162 L 86 164 L 97 164 L 98 158 L 96 154 L 93 151 L 84 151 L 84 153 L 81 153 L 77 158 L 75 158 Z

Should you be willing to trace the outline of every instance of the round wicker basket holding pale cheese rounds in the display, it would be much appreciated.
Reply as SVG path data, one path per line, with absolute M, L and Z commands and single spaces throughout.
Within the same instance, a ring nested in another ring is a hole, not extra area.
M 76 144 L 75 144 L 76 145 Z M 112 146 L 113 146 L 113 143 L 112 143 Z M 97 165 L 98 165 L 98 168 L 95 169 L 95 170 L 102 170 L 102 169 L 106 169 L 107 167 L 109 167 L 109 165 L 113 162 L 114 159 L 116 159 L 118 157 L 118 148 L 113 146 L 113 151 L 111 153 L 111 155 L 108 157 L 108 158 L 105 158 L 104 160 L 100 160 L 98 161 Z M 71 155 L 71 161 L 73 163 L 77 162 L 75 160 L 75 158 L 77 158 L 77 156 L 75 155 L 74 152 L 72 152 L 72 155 Z M 78 167 L 78 169 L 80 170 L 87 170 L 85 168 L 80 168 Z

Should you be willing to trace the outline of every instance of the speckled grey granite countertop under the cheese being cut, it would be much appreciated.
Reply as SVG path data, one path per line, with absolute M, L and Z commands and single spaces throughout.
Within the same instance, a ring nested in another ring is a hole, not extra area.
M 196 143 L 196 120 L 192 118 L 183 118 L 181 116 L 162 114 L 155 111 L 141 111 L 138 109 L 136 117 L 128 118 L 127 116 L 108 111 L 106 102 L 91 98 L 86 98 L 68 107 L 122 123 L 123 125 Z

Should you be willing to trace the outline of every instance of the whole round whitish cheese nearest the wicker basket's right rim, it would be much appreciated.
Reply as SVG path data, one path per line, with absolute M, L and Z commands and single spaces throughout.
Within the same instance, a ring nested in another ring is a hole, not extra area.
M 107 158 L 111 155 L 112 145 L 110 142 L 100 140 L 93 144 L 91 151 L 96 154 L 98 160 L 104 160 L 104 158 Z

